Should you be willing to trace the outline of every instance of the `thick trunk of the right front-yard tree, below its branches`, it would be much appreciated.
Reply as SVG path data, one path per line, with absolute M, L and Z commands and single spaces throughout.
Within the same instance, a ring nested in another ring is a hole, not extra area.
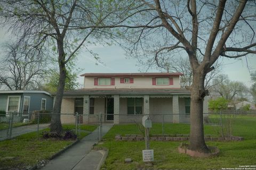
M 208 153 L 210 150 L 204 141 L 203 100 L 207 94 L 204 89 L 204 78 L 205 74 L 194 72 L 190 101 L 189 149 Z

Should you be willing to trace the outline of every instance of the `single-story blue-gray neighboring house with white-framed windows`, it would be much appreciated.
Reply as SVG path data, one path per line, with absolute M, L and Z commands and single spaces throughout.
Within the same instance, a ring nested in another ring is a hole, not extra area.
M 42 90 L 1 90 L 0 111 L 27 115 L 33 111 L 52 111 L 53 97 Z

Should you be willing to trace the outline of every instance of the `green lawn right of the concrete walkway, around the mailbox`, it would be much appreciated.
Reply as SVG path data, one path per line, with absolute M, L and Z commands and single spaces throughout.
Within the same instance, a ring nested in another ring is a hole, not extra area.
M 220 156 L 214 158 L 193 158 L 179 154 L 180 142 L 150 141 L 150 149 L 154 149 L 154 169 L 221 169 L 236 168 L 239 165 L 255 165 L 256 162 L 256 117 L 237 116 L 233 120 L 233 135 L 244 137 L 244 141 L 206 142 L 217 146 Z M 219 135 L 220 127 L 205 125 L 205 134 Z M 189 124 L 165 124 L 165 133 L 188 134 Z M 162 134 L 162 125 L 153 124 L 151 134 Z M 142 150 L 145 141 L 115 141 L 116 134 L 141 134 L 136 125 L 115 125 L 105 136 L 105 143 L 98 147 L 106 147 L 109 154 L 102 168 L 106 169 L 138 169 L 149 168 L 142 162 Z M 132 158 L 131 164 L 125 164 L 125 158 Z

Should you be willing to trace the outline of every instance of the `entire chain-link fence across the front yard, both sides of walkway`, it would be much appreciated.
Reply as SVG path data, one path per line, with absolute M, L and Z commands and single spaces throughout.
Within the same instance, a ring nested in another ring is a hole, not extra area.
M 38 137 L 43 132 L 50 131 L 50 124 L 52 116 L 60 116 L 62 129 L 57 131 L 72 131 L 78 138 L 82 139 L 85 135 L 94 131 L 97 135 L 93 140 L 102 140 L 102 124 L 127 124 L 133 125 L 138 134 L 143 134 L 142 117 L 145 115 L 129 115 L 129 114 L 78 114 L 65 113 L 53 114 L 33 112 L 29 114 L 8 113 L 0 117 L 0 140 L 11 139 L 18 135 L 28 132 L 36 132 Z M 153 126 L 151 128 L 151 135 L 176 135 L 189 134 L 189 114 L 149 114 Z M 239 131 L 234 128 L 234 124 L 245 123 L 245 119 L 256 119 L 256 112 L 210 112 L 204 114 L 204 124 L 210 127 L 211 133 L 219 137 L 231 137 Z M 175 123 L 175 124 L 174 124 Z M 179 124 L 185 129 L 180 129 Z M 133 133 L 132 131 L 130 133 Z

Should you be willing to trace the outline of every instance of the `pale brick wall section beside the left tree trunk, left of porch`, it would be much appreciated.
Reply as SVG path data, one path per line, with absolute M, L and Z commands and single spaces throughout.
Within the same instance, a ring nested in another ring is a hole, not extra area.
M 63 98 L 61 103 L 61 123 L 76 123 L 75 113 L 75 99 Z

